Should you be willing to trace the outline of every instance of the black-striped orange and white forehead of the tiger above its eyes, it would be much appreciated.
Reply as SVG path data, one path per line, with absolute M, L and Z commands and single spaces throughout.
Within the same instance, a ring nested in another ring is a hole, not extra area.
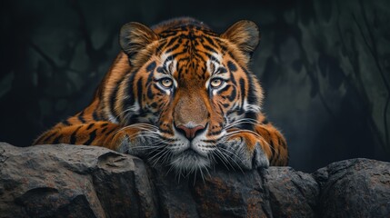
M 220 38 L 200 26 L 182 26 L 160 34 L 157 48 L 165 72 L 208 77 L 223 63 L 225 48 Z M 207 76 L 208 75 L 208 76 Z

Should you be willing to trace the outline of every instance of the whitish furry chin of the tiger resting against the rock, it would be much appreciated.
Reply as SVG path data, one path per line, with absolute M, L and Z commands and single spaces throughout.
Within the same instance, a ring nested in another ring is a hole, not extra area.
M 202 171 L 211 166 L 208 157 L 197 154 L 192 149 L 187 149 L 181 154 L 171 157 L 170 165 L 177 173 L 193 173 Z

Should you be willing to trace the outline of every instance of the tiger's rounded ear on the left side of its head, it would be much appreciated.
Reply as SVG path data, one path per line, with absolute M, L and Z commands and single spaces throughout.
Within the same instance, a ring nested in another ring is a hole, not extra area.
M 153 30 L 136 22 L 130 22 L 122 26 L 119 34 L 119 44 L 125 54 L 128 55 L 130 62 L 135 54 L 157 39 L 158 36 Z

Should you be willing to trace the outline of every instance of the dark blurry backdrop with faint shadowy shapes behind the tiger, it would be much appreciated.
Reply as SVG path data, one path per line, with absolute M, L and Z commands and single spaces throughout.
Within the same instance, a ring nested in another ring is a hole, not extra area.
M 290 165 L 390 161 L 390 2 L 1 1 L 0 141 L 18 146 L 84 108 L 119 51 L 121 25 L 189 15 L 221 33 L 255 21 L 252 69 Z

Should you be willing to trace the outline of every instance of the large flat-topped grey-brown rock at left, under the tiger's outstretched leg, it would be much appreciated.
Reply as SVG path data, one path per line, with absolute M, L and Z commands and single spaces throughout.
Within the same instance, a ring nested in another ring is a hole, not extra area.
M 145 164 L 101 147 L 0 144 L 0 217 L 156 217 Z

